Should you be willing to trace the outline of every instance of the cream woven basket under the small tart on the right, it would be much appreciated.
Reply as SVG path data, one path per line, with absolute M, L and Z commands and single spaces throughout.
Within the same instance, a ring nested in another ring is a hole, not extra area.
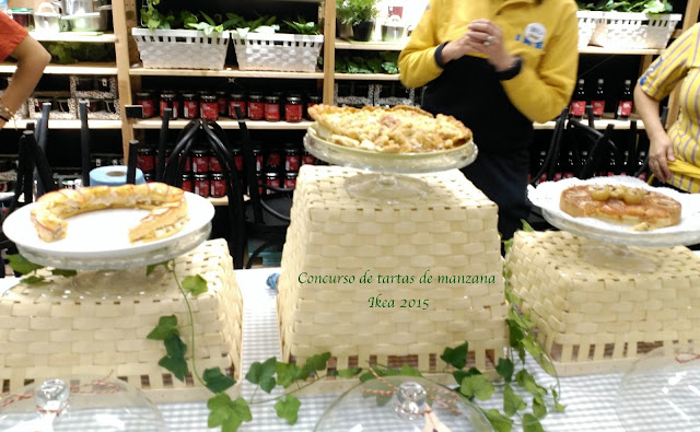
M 579 249 L 588 244 L 568 232 L 517 232 L 506 257 L 559 375 L 625 370 L 653 348 L 698 340 L 699 257 L 681 246 L 630 248 L 657 267 L 633 273 L 587 264 Z

